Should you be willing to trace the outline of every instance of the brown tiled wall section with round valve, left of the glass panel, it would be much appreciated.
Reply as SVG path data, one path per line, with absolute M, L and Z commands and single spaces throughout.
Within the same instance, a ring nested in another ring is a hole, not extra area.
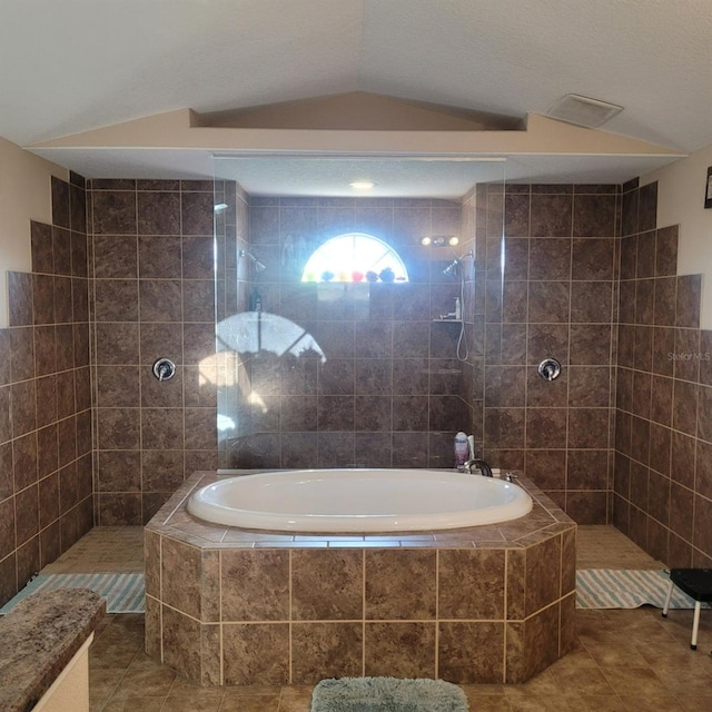
M 214 199 L 227 192 L 214 196 L 212 181 L 89 185 L 99 525 L 145 523 L 186 473 L 217 466 Z M 172 379 L 152 375 L 159 357 L 177 365 Z

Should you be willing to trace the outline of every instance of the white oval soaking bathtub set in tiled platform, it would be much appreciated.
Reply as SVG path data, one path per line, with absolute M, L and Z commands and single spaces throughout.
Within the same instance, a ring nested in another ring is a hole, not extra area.
M 197 490 L 207 522 L 280 532 L 423 532 L 524 516 L 532 497 L 505 479 L 434 469 L 293 469 Z

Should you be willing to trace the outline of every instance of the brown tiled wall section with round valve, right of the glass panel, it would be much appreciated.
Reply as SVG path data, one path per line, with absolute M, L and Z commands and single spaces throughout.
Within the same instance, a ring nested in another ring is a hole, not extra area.
M 501 191 L 500 191 L 501 192 Z M 581 524 L 607 521 L 620 187 L 510 185 L 490 191 L 485 456 L 523 468 Z M 543 380 L 553 357 L 562 375 Z

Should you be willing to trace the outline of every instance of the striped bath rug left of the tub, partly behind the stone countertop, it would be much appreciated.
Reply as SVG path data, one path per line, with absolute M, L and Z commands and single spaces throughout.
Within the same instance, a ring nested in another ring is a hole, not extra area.
M 144 574 L 38 574 L 8 601 L 0 614 L 37 591 L 89 589 L 107 600 L 107 613 L 144 613 L 146 586 Z

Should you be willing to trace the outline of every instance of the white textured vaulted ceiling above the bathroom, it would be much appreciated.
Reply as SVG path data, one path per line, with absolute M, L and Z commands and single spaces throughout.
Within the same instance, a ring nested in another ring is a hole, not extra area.
M 624 107 L 606 131 L 690 152 L 712 144 L 711 68 L 709 0 L 0 0 L 0 136 L 24 147 L 186 107 L 364 91 L 521 119 L 574 92 Z M 89 177 L 210 170 L 179 150 L 52 160 Z M 620 181 L 669 160 L 522 157 L 507 179 Z M 255 159 L 238 178 L 316 190 L 315 166 Z

